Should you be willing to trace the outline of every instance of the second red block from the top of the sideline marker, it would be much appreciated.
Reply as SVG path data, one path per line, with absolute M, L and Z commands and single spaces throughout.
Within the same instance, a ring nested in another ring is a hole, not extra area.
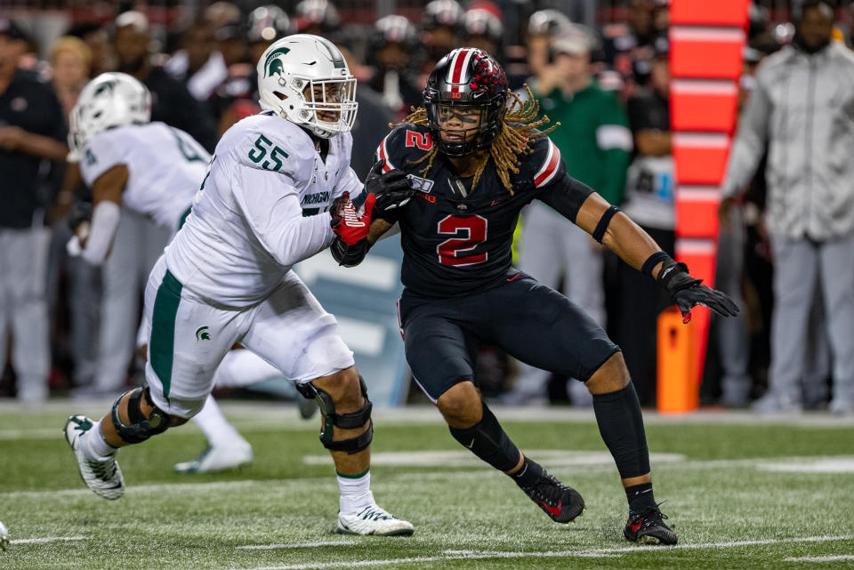
M 670 28 L 670 73 L 681 79 L 741 76 L 745 32 L 737 28 Z

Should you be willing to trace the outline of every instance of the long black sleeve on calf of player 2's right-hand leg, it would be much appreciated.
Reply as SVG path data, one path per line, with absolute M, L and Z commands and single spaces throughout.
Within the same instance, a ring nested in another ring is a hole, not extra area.
M 641 403 L 634 385 L 608 394 L 593 395 L 593 412 L 599 433 L 614 457 L 620 478 L 640 477 L 649 473 L 647 437 L 643 431 Z

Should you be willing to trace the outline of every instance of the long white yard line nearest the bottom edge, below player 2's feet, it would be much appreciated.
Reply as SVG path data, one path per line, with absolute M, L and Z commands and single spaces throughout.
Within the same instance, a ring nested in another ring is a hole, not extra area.
M 447 556 L 425 556 L 416 558 L 386 558 L 378 560 L 350 560 L 347 562 L 320 562 L 290 564 L 285 566 L 257 566 L 246 570 L 321 570 L 324 568 L 363 568 L 371 566 L 392 566 L 416 564 L 421 562 L 446 562 L 447 560 L 487 559 L 487 558 L 599 558 L 615 556 L 623 552 L 661 552 L 662 550 L 704 550 L 756 546 L 761 544 L 783 544 L 790 542 L 834 542 L 854 539 L 854 535 L 844 536 L 805 536 L 802 538 L 766 539 L 761 541 L 702 542 L 697 544 L 677 544 L 676 546 L 628 546 L 611 549 L 560 550 L 550 552 L 478 552 L 463 550 L 458 553 L 448 551 Z

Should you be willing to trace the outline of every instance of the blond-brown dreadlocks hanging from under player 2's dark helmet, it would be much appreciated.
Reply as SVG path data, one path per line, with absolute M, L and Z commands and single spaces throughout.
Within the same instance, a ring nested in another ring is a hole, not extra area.
M 539 130 L 539 127 L 549 123 L 549 117 L 536 118 L 540 112 L 540 104 L 534 98 L 534 94 L 528 85 L 525 85 L 525 90 L 528 92 L 528 99 L 524 102 L 520 99 L 519 95 L 510 92 L 513 100 L 510 108 L 507 109 L 507 113 L 504 115 L 501 132 L 498 133 L 498 136 L 489 145 L 489 152 L 480 158 L 477 170 L 474 173 L 472 186 L 477 185 L 480 175 L 483 173 L 484 168 L 487 167 L 487 162 L 492 158 L 495 162 L 495 171 L 504 184 L 504 188 L 508 189 L 512 194 L 513 189 L 510 182 L 510 173 L 519 173 L 520 157 L 531 152 L 536 137 L 541 137 L 544 134 L 552 132 L 560 126 L 560 123 L 556 123 L 542 131 Z M 426 126 L 427 111 L 423 107 L 415 108 L 403 122 Z M 439 147 L 434 144 L 426 155 L 413 161 L 415 165 L 427 161 L 427 165 L 419 172 L 422 176 L 430 171 L 433 160 L 438 153 Z

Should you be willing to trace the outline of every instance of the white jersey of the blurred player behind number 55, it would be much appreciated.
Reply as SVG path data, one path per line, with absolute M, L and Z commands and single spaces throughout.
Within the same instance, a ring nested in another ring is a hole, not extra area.
M 163 123 L 128 124 L 99 132 L 86 144 L 80 173 L 92 187 L 113 166 L 127 166 L 122 205 L 174 232 L 210 161 L 207 151 L 180 129 Z

